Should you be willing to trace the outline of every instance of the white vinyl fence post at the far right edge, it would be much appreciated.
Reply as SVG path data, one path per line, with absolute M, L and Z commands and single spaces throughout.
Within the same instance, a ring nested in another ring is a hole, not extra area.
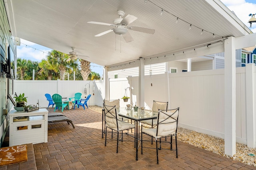
M 246 136 L 247 146 L 255 148 L 255 123 L 254 123 L 254 63 L 246 64 Z

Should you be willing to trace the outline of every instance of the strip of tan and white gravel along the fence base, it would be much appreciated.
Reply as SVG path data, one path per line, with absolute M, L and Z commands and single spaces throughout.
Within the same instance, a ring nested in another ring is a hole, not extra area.
M 102 107 L 90 106 L 92 109 L 98 113 L 102 113 Z M 256 156 L 249 156 L 248 154 L 256 155 L 256 148 L 248 148 L 246 145 L 236 143 L 236 154 L 233 157 L 224 154 L 224 140 L 218 137 L 213 137 L 203 133 L 198 133 L 195 131 L 190 131 L 178 127 L 178 140 L 199 147 L 210 152 L 243 162 L 245 164 L 256 166 Z

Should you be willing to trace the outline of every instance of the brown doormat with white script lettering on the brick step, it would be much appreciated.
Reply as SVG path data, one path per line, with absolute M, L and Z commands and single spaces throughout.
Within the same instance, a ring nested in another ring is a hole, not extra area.
M 16 164 L 27 160 L 27 145 L 0 148 L 0 166 Z

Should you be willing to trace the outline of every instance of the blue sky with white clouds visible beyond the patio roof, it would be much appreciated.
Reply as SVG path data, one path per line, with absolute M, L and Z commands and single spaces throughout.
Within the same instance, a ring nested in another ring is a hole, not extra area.
M 247 26 L 250 27 L 249 14 L 256 14 L 256 0 L 221 0 L 236 16 Z M 252 32 L 256 33 L 256 23 L 252 23 L 250 28 Z M 46 58 L 49 49 L 42 45 L 20 39 L 20 46 L 17 46 L 17 57 L 22 59 L 29 59 L 31 61 L 41 61 Z M 91 70 L 97 72 L 102 77 L 103 66 L 91 63 Z

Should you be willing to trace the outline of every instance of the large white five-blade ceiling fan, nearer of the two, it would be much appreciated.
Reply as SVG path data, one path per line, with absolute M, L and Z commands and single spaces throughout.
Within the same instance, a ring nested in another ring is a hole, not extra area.
M 150 33 L 150 34 L 155 33 L 154 29 L 130 26 L 129 25 L 130 23 L 132 23 L 133 21 L 138 19 L 136 16 L 128 14 L 126 17 L 122 18 L 125 13 L 121 10 L 118 10 L 117 14 L 118 14 L 119 18 L 115 19 L 113 21 L 113 24 L 104 23 L 104 22 L 95 22 L 95 21 L 87 22 L 87 23 L 94 23 L 94 24 L 99 24 L 99 25 L 109 25 L 109 26 L 114 27 L 112 29 L 109 29 L 107 31 L 104 31 L 102 33 L 95 35 L 95 37 L 99 37 L 99 36 L 105 35 L 106 33 L 110 33 L 111 31 L 114 31 L 114 33 L 116 33 L 118 35 L 122 35 L 124 37 L 124 40 L 128 43 L 128 42 L 133 41 L 132 36 L 128 32 L 128 29 L 133 30 L 133 31 L 143 32 L 143 33 Z

